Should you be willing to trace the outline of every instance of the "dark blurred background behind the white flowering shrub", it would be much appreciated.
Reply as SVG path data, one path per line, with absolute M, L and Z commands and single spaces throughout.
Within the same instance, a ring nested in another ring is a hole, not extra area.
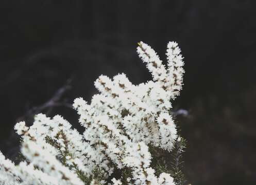
M 184 88 L 174 109 L 188 142 L 184 173 L 192 184 L 256 182 L 256 11 L 251 1 L 13 1 L 2 0 L 0 55 L 1 150 L 18 151 L 13 125 L 54 96 L 90 101 L 102 73 L 125 72 L 135 84 L 150 79 L 136 43 L 162 60 L 177 41 L 185 61 Z M 75 127 L 75 111 L 58 106 Z M 24 116 L 25 115 L 25 116 Z

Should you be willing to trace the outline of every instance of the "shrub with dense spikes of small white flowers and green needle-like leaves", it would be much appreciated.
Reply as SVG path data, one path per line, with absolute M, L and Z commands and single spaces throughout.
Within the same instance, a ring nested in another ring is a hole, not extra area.
M 73 104 L 83 134 L 58 115 L 36 115 L 30 127 L 17 123 L 22 159 L 14 164 L 0 154 L 0 184 L 182 184 L 184 140 L 170 110 L 182 88 L 180 48 L 168 43 L 167 67 L 147 44 L 137 51 L 153 81 L 133 85 L 124 73 L 101 75 L 91 103 Z M 169 153 L 175 164 L 163 159 Z

